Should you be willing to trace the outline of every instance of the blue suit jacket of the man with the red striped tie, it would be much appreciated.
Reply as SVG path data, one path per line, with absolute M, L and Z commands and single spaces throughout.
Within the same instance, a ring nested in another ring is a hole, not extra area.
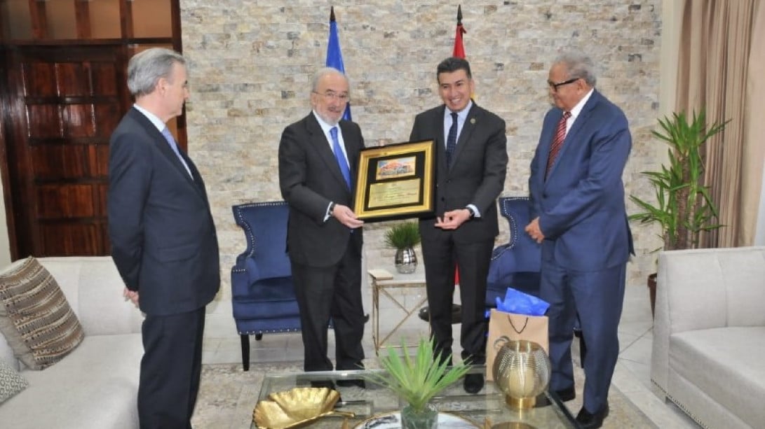
M 539 216 L 542 259 L 581 271 L 626 263 L 633 253 L 624 207 L 622 171 L 632 147 L 627 118 L 600 92 L 582 108 L 545 180 L 555 128 L 563 115 L 545 115 L 529 177 L 531 218 Z

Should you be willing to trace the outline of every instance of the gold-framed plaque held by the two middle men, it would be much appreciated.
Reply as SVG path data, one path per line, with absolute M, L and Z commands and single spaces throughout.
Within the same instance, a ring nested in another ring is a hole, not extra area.
M 432 214 L 434 186 L 433 140 L 367 147 L 359 156 L 353 212 L 366 222 Z

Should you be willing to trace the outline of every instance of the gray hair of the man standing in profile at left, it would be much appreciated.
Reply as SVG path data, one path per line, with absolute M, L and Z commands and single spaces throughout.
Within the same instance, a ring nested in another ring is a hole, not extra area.
M 173 64 L 186 65 L 186 60 L 174 50 L 152 47 L 136 53 L 128 62 L 128 89 L 132 95 L 154 92 L 159 79 L 171 79 Z

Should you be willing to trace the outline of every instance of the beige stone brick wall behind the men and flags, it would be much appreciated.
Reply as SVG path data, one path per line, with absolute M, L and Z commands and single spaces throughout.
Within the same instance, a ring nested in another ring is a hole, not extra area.
M 310 111 L 311 75 L 324 65 L 332 2 L 181 0 L 184 55 L 190 61 L 189 151 L 207 182 L 220 237 L 224 284 L 243 252 L 231 205 L 282 199 L 277 149 L 283 128 Z M 648 198 L 640 176 L 664 150 L 650 137 L 659 111 L 661 2 L 617 0 L 463 2 L 464 47 L 476 100 L 507 123 L 509 165 L 503 195 L 528 190 L 529 161 L 549 108 L 545 80 L 568 47 L 600 66 L 597 88 L 627 114 L 633 151 L 627 194 Z M 334 2 L 351 82 L 352 113 L 366 145 L 405 141 L 419 111 L 440 104 L 435 66 L 451 55 L 457 3 L 426 0 Z M 633 205 L 628 204 L 633 211 Z M 367 266 L 392 260 L 387 225 L 365 227 Z M 628 282 L 654 269 L 655 231 L 633 225 L 638 257 Z M 507 240 L 506 224 L 497 243 Z M 280 244 L 281 246 L 281 244 Z

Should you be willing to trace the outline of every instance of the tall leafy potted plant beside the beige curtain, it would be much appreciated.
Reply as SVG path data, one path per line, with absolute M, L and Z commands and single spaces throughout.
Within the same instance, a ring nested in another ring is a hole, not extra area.
M 669 166 L 662 164 L 657 171 L 644 171 L 653 185 L 656 203 L 630 195 L 642 211 L 630 215 L 641 224 L 659 224 L 664 250 L 698 247 L 699 234 L 721 227 L 718 208 L 704 185 L 702 145 L 709 137 L 723 130 L 725 124 L 715 121 L 707 126 L 702 109 L 688 122 L 685 113 L 673 113 L 672 118 L 659 119 L 661 129 L 652 131 L 654 137 L 669 146 Z M 661 249 L 661 247 L 659 248 Z M 656 249 L 656 250 L 659 250 Z M 654 250 L 655 251 L 655 250 Z M 649 276 L 648 287 L 651 313 L 656 301 L 656 273 Z

